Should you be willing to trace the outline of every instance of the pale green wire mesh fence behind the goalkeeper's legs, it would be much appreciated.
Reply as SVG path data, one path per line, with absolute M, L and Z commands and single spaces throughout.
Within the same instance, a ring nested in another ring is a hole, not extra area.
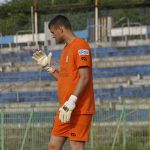
M 123 99 L 122 99 L 123 100 Z M 124 101 L 124 100 L 123 100 Z M 88 150 L 148 150 L 150 105 L 139 102 L 96 105 Z M 1 150 L 47 150 L 57 104 L 5 104 L 1 106 Z M 68 142 L 64 149 L 69 149 Z

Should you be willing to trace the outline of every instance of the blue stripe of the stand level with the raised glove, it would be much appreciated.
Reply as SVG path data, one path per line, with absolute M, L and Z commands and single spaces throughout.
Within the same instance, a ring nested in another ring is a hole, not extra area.
M 48 54 L 50 50 L 47 50 Z M 53 59 L 59 60 L 61 50 L 51 51 L 53 53 Z M 18 52 L 10 52 L 0 55 L 0 62 L 31 62 L 33 50 L 22 50 Z M 150 46 L 133 46 L 133 47 L 122 47 L 122 48 L 93 48 L 92 56 L 97 58 L 113 57 L 113 56 L 141 56 L 150 55 Z

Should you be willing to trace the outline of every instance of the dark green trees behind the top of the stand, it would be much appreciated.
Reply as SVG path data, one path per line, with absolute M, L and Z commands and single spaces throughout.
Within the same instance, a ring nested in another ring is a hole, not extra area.
M 149 0 L 99 0 L 100 6 L 146 3 Z M 87 26 L 87 19 L 94 17 L 95 0 L 38 0 L 39 32 L 43 32 L 44 21 L 49 21 L 56 14 L 65 14 L 71 21 L 74 30 L 82 30 Z M 73 9 L 84 5 L 85 8 Z M 19 30 L 31 30 L 31 6 L 34 0 L 12 0 L 0 5 L 0 33 L 3 35 L 15 34 Z M 67 7 L 70 6 L 70 7 Z M 90 10 L 87 8 L 90 7 Z M 63 9 L 62 9 L 63 8 Z M 131 22 L 150 24 L 150 10 L 144 9 L 116 9 L 105 10 L 100 7 L 99 15 L 113 16 L 114 22 L 120 18 L 129 18 Z M 126 20 L 124 20 L 126 22 Z M 122 25 L 123 22 L 117 24 Z

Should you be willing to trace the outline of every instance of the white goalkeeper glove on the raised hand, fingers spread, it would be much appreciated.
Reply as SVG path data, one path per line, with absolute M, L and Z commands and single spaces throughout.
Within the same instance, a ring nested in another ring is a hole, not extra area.
M 50 73 L 55 72 L 55 68 L 51 66 L 52 53 L 50 52 L 48 56 L 41 50 L 36 51 L 32 59 L 37 62 L 44 70 L 47 70 Z

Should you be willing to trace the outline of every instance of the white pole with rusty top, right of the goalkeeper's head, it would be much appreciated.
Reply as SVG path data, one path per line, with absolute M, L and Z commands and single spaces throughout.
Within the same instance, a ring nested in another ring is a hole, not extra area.
M 100 0 L 95 0 L 95 42 L 98 41 L 98 4 Z

